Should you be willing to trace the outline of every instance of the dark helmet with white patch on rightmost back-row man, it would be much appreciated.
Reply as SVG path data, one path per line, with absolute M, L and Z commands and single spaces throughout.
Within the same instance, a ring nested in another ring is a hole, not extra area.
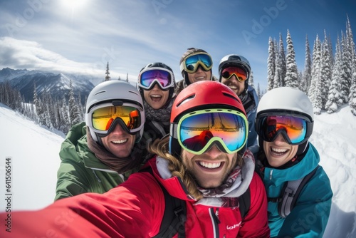
M 229 66 L 237 66 L 244 68 L 247 73 L 247 79 L 245 83 L 248 83 L 248 79 L 251 76 L 251 66 L 248 60 L 244 56 L 239 56 L 237 54 L 230 54 L 221 58 L 219 63 L 219 82 L 221 82 L 221 71 Z

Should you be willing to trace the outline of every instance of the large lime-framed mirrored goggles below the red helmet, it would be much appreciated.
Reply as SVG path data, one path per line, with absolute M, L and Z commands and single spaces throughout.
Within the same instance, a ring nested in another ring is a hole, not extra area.
M 172 123 L 171 135 L 188 152 L 201 155 L 218 146 L 221 151 L 232 154 L 244 148 L 248 135 L 246 116 L 236 110 L 197 110 Z

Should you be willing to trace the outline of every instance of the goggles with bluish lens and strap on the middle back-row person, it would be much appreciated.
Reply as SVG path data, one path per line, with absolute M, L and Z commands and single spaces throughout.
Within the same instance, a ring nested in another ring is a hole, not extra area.
M 213 66 L 213 61 L 209 53 L 197 52 L 192 53 L 187 58 L 184 58 L 180 64 L 180 71 L 186 71 L 187 73 L 195 73 L 197 69 L 201 66 L 204 71 L 211 70 Z

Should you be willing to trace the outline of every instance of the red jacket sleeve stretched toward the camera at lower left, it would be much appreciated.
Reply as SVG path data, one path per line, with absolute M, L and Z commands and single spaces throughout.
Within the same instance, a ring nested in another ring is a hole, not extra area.
M 0 237 L 154 236 L 163 213 L 164 195 L 157 181 L 139 172 L 104 195 L 68 197 L 36 212 L 1 212 L 1 221 L 11 214 L 11 229 L 6 232 L 3 226 Z

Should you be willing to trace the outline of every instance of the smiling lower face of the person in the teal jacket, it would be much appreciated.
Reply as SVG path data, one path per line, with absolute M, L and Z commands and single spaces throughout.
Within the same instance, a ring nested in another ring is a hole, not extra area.
M 283 135 L 279 134 L 273 142 L 263 140 L 263 150 L 268 163 L 272 167 L 280 167 L 293 159 L 298 151 L 298 145 L 288 144 Z

